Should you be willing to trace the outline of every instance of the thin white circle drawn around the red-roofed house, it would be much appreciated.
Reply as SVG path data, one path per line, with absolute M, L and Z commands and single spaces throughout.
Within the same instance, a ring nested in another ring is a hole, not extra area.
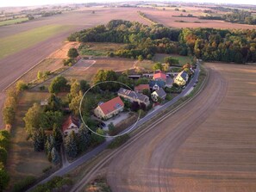
M 99 82 L 99 83 L 97 83 L 97 84 L 92 85 L 88 90 L 86 90 L 86 91 L 84 92 L 84 95 L 83 95 L 83 97 L 82 97 L 82 99 L 81 99 L 81 101 L 80 101 L 80 105 L 79 105 L 79 115 L 80 115 L 81 120 L 82 120 L 83 122 L 84 122 L 84 118 L 83 118 L 83 115 L 82 115 L 82 112 L 81 112 L 81 106 L 82 106 L 82 102 L 83 102 L 83 100 L 84 100 L 84 96 L 89 92 L 89 90 L 91 90 L 91 89 L 94 88 L 95 86 L 97 86 L 97 85 L 99 85 L 99 84 L 105 84 L 105 83 L 117 83 L 117 84 L 122 84 L 122 85 L 128 87 L 129 90 L 134 91 L 134 90 L 133 90 L 132 88 L 130 88 L 127 84 L 123 84 L 123 83 L 118 82 L 118 81 L 103 81 L 103 82 Z M 136 95 L 136 98 L 138 98 L 137 93 L 136 93 L 135 91 L 134 91 L 134 93 L 135 93 L 135 95 Z M 98 136 L 101 136 L 101 137 L 104 137 L 104 138 L 116 138 L 116 137 L 122 136 L 122 135 L 124 135 L 124 134 L 126 134 L 126 133 L 129 133 L 130 131 L 133 130 L 133 128 L 136 126 L 136 124 L 137 124 L 138 121 L 140 120 L 140 113 L 141 113 L 141 111 L 139 110 L 139 116 L 138 116 L 136 122 L 134 123 L 134 125 L 133 125 L 132 127 L 130 127 L 130 128 L 128 129 L 128 131 L 126 131 L 125 133 L 122 133 L 122 134 L 118 133 L 118 134 L 113 135 L 113 136 L 110 136 L 110 135 L 102 135 L 102 134 L 99 134 L 99 133 L 97 133 L 97 132 L 94 132 L 94 131 L 91 130 L 90 127 L 88 127 L 88 126 L 86 125 L 85 122 L 84 122 L 84 125 L 85 125 L 85 127 L 87 127 L 92 133 L 95 133 L 95 134 L 97 134 Z

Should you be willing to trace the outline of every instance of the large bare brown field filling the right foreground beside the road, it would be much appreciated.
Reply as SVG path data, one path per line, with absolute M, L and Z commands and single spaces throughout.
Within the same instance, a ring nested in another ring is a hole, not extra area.
M 255 191 L 256 67 L 209 66 L 196 99 L 111 161 L 114 192 Z

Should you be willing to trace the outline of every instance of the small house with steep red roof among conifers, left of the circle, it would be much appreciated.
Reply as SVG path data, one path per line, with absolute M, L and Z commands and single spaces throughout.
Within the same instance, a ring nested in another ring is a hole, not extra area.
M 66 121 L 64 121 L 62 125 L 63 135 L 66 136 L 72 133 L 72 131 L 74 131 L 75 133 L 78 133 L 78 130 L 79 130 L 79 120 L 73 117 L 72 115 L 70 115 L 68 118 L 66 118 Z

